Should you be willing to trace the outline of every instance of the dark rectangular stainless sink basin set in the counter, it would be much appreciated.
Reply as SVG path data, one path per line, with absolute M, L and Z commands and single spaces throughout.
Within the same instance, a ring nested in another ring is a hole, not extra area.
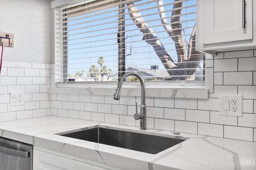
M 184 141 L 181 139 L 147 135 L 102 127 L 94 127 L 92 129 L 66 133 L 62 134 L 61 136 L 130 150 L 137 150 L 150 154 L 157 154 Z

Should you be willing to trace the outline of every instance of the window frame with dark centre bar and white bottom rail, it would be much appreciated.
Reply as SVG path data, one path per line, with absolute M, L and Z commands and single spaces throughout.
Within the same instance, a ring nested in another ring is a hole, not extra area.
M 74 7 L 74 6 L 79 6 L 80 4 L 84 4 L 86 3 L 86 1 L 88 2 L 93 2 L 93 1 L 97 1 L 97 0 L 84 0 L 83 2 L 74 2 L 72 1 L 70 3 L 70 6 Z M 117 0 L 118 2 L 122 2 L 124 0 Z M 66 6 L 67 4 L 64 4 L 62 6 Z M 122 8 L 124 7 L 124 4 L 118 6 L 118 8 Z M 62 7 L 61 7 L 61 10 L 62 10 Z M 118 10 L 118 14 L 122 14 L 124 13 L 124 10 Z M 124 15 L 121 15 L 120 17 L 123 17 L 124 18 Z M 61 12 L 61 18 L 62 18 L 62 12 Z M 118 17 L 118 20 L 122 20 L 123 18 L 119 18 Z M 62 19 L 61 19 L 62 20 Z M 118 21 L 118 25 L 124 25 L 123 23 L 124 21 Z M 61 22 L 62 23 L 62 22 Z M 67 24 L 67 23 L 66 23 Z M 61 25 L 63 26 L 63 25 Z M 66 29 L 66 28 L 65 28 Z M 120 30 L 119 30 L 120 29 Z M 125 27 L 118 27 L 118 31 L 123 31 L 123 32 L 119 32 L 117 34 L 117 37 L 118 37 L 118 77 L 121 77 L 125 71 L 126 71 L 126 68 L 125 68 L 125 31 L 124 31 Z M 63 35 L 63 33 L 61 33 Z M 124 34 L 124 35 L 122 35 Z M 56 34 L 55 34 L 56 36 Z M 119 38 L 119 37 L 123 37 L 123 38 Z M 61 37 L 61 39 L 63 40 L 63 38 L 65 37 Z M 66 37 L 67 38 L 67 37 Z M 67 41 L 65 41 L 64 43 L 66 43 L 66 45 L 68 44 Z M 63 45 L 62 45 L 63 47 Z M 61 48 L 62 48 L 61 47 Z M 68 59 L 68 52 L 66 52 L 64 55 L 62 54 L 62 57 L 66 57 L 66 59 Z M 63 59 L 63 58 L 62 58 Z M 68 60 L 66 60 L 68 61 Z M 206 56 L 204 55 L 203 56 L 203 66 L 205 68 L 205 62 L 206 62 Z M 63 69 L 63 65 L 64 63 L 61 64 L 62 66 L 62 75 L 67 75 L 67 74 L 64 74 L 65 73 L 65 69 Z M 67 66 L 67 64 L 66 64 Z M 165 81 L 146 81 L 145 84 L 146 84 L 146 88 L 151 88 L 151 89 L 159 89 L 159 88 L 163 88 L 163 89 L 206 89 L 206 74 L 205 74 L 205 71 L 206 69 L 203 69 L 203 80 L 190 80 L 190 81 L 179 81 L 179 80 L 176 80 L 176 81 L 168 81 L 168 80 L 165 80 Z M 63 81 L 63 79 L 67 79 L 67 77 L 63 78 L 61 77 L 61 82 L 60 81 L 55 81 L 55 86 L 56 87 L 81 87 L 83 86 L 84 88 L 92 88 L 92 87 L 98 87 L 98 88 L 104 88 L 104 87 L 107 87 L 107 88 L 113 88 L 113 85 L 117 85 L 118 84 L 118 81 L 110 81 L 110 82 L 72 82 L 72 81 Z M 119 80 L 119 78 L 118 78 Z M 124 82 L 124 87 L 127 87 L 127 88 L 140 88 L 138 87 L 138 84 L 139 82 Z

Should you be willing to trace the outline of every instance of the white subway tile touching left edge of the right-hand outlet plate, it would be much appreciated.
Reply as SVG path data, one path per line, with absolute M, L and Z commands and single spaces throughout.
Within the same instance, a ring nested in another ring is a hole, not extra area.
M 212 110 L 219 111 L 219 99 L 209 98 L 209 99 L 198 99 L 198 110 Z

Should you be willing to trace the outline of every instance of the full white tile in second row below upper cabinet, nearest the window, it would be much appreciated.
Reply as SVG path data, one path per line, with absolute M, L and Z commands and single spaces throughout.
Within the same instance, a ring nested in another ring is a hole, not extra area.
M 237 59 L 214 60 L 214 72 L 237 71 Z

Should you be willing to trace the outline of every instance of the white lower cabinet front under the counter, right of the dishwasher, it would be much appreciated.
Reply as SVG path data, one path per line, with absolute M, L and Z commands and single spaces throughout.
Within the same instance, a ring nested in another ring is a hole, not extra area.
M 52 151 L 56 152 L 56 151 Z M 42 149 L 34 149 L 33 152 L 33 170 L 106 170 L 106 169 L 116 169 L 114 167 L 109 167 L 108 165 L 94 162 L 92 164 L 85 163 L 86 161 L 92 162 L 90 160 L 82 159 L 83 161 L 75 160 L 72 155 L 63 154 L 56 152 L 53 154 L 50 152 L 45 152 Z M 105 168 L 106 167 L 106 168 Z

